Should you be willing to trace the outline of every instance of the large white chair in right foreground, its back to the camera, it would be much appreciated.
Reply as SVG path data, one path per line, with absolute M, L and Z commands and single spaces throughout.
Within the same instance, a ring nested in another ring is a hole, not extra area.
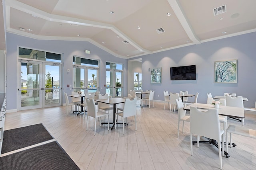
M 218 142 L 220 169 L 222 169 L 222 156 L 224 156 L 224 130 L 220 129 L 218 110 L 211 108 L 205 112 L 190 106 L 190 149 L 193 155 L 192 138 L 197 135 L 197 147 L 199 147 L 199 136 L 214 139 Z M 222 137 L 222 148 L 221 148 Z M 222 153 L 221 153 L 222 150 Z

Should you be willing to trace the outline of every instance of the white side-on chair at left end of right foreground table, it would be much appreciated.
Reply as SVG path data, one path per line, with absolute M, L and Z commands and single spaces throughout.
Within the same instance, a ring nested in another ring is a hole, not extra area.
M 182 121 L 182 133 L 183 133 L 183 129 L 184 129 L 184 121 L 190 122 L 190 116 L 185 116 L 185 110 L 184 105 L 182 100 L 176 99 L 176 105 L 177 105 L 177 109 L 178 109 L 178 138 L 179 138 L 179 133 L 180 133 L 180 121 Z

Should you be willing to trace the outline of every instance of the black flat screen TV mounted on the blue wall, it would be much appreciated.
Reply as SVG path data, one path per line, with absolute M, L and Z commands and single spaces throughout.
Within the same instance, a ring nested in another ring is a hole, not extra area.
M 171 67 L 171 80 L 196 80 L 196 65 Z

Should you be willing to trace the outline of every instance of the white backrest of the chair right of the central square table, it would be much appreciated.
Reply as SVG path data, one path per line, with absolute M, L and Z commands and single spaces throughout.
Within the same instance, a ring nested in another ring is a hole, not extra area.
M 132 100 L 130 99 L 125 99 L 124 102 L 124 110 L 123 110 L 123 115 L 124 117 L 130 117 L 136 115 L 136 103 L 137 99 L 134 98 Z

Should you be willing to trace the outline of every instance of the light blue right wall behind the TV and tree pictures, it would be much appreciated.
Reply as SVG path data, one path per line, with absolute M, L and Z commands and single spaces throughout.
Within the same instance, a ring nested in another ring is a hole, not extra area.
M 223 96 L 224 92 L 244 96 L 249 102 L 244 107 L 254 107 L 256 100 L 256 33 L 220 39 L 173 49 L 142 57 L 143 90 L 155 90 L 154 100 L 164 100 L 163 91 L 189 94 L 199 92 L 198 102 L 206 103 L 206 93 Z M 214 83 L 214 61 L 238 60 L 238 83 Z M 170 67 L 196 64 L 196 80 L 170 80 Z M 148 68 L 162 67 L 162 83 L 150 84 Z M 159 95 L 159 97 L 158 97 Z M 190 99 L 194 101 L 194 97 Z

